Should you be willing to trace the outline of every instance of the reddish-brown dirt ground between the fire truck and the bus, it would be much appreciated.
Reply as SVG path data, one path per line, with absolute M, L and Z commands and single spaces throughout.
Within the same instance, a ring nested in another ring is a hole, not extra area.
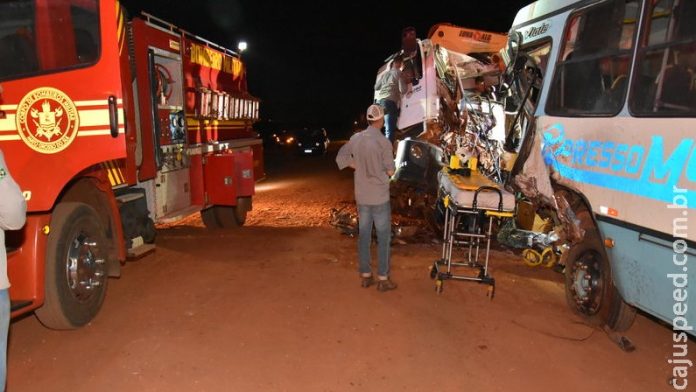
M 8 390 L 671 390 L 668 327 L 639 314 L 624 353 L 570 313 L 559 274 L 507 251 L 494 252 L 493 301 L 468 282 L 438 296 L 432 243 L 394 246 L 396 291 L 361 288 L 356 240 L 328 225 L 352 173 L 288 151 L 267 172 L 245 227 L 193 216 L 161 230 L 88 326 L 13 322 Z

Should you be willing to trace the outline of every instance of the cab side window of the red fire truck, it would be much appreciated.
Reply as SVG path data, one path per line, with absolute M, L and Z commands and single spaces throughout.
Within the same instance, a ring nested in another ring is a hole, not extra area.
M 0 80 L 94 63 L 97 7 L 97 0 L 0 2 Z

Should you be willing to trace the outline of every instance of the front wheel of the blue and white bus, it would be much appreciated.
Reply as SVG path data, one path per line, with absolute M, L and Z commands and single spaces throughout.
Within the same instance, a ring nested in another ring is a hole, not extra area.
M 568 306 L 588 324 L 607 325 L 624 331 L 633 323 L 635 309 L 627 305 L 614 287 L 611 266 L 596 229 L 568 251 L 565 266 Z

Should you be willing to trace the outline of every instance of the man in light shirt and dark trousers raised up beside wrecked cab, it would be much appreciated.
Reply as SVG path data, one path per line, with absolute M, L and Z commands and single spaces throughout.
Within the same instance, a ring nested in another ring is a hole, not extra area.
M 391 143 L 394 143 L 396 137 L 396 120 L 399 117 L 401 95 L 408 93 L 408 84 L 401 76 L 402 66 L 401 56 L 395 57 L 389 71 L 375 83 L 375 100 L 384 108 L 385 113 L 384 135 Z

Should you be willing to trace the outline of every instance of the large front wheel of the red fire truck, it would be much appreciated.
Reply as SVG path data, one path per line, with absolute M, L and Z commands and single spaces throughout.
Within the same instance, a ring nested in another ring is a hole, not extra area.
M 46 327 L 75 329 L 99 312 L 107 285 L 104 233 L 92 207 L 67 202 L 56 207 L 46 249 L 46 298 L 36 310 Z

